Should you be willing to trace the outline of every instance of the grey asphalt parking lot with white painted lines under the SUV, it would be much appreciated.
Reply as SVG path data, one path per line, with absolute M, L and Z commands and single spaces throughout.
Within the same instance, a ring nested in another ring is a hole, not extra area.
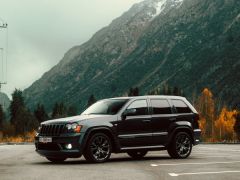
M 198 145 L 188 159 L 170 159 L 166 151 L 149 152 L 143 160 L 113 154 L 103 164 L 84 158 L 52 164 L 33 145 L 0 146 L 0 180 L 61 179 L 170 179 L 239 180 L 240 145 Z

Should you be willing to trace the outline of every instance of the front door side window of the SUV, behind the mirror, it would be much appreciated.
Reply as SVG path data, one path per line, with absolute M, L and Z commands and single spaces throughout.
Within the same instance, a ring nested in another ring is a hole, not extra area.
M 130 104 L 127 109 L 136 109 L 136 113 L 132 116 L 148 114 L 148 106 L 146 100 L 136 100 Z

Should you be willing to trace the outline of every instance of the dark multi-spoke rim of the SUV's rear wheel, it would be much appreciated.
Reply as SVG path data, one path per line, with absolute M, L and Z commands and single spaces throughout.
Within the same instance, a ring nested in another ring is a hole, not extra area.
M 191 140 L 186 134 L 177 136 L 176 139 L 176 150 L 179 156 L 185 157 L 191 151 Z

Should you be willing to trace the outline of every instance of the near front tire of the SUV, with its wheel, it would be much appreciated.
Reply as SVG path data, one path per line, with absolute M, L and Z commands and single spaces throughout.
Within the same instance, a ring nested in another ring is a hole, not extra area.
M 96 133 L 88 140 L 83 156 L 89 162 L 102 163 L 110 158 L 111 153 L 111 139 L 104 133 Z

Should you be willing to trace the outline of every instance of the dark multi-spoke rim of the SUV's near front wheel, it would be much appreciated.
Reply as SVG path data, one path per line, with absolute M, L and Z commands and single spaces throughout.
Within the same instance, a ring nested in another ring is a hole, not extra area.
M 91 151 L 96 160 L 105 160 L 110 154 L 110 144 L 108 139 L 104 136 L 95 137 L 91 143 Z

